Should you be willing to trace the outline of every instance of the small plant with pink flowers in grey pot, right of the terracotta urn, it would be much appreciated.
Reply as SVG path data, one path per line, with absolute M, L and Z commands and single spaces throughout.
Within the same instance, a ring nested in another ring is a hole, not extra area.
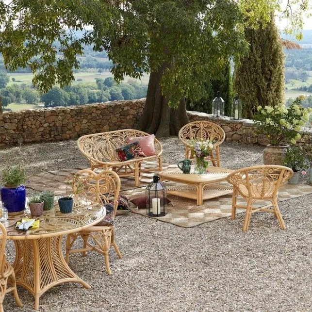
M 305 159 L 303 156 L 302 148 L 300 146 L 292 146 L 287 148 L 284 158 L 284 165 L 294 171 L 294 175 L 288 180 L 289 184 L 298 184 L 301 170 L 304 168 Z M 302 171 L 302 174 L 305 174 Z

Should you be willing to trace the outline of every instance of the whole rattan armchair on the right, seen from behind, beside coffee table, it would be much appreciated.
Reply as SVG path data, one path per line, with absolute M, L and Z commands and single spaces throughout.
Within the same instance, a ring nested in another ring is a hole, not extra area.
M 236 217 L 236 208 L 246 209 L 243 231 L 248 230 L 252 213 L 264 211 L 274 213 L 282 230 L 286 230 L 279 211 L 279 187 L 293 175 L 293 170 L 279 165 L 261 165 L 239 169 L 232 172 L 227 180 L 233 184 L 232 220 Z M 246 206 L 237 205 L 237 196 L 241 195 Z M 256 201 L 270 202 L 263 207 L 252 206 Z M 270 208 L 273 207 L 273 208 Z

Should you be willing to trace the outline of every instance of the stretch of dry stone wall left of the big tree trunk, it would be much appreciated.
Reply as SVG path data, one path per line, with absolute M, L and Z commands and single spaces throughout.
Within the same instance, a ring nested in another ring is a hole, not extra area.
M 145 99 L 0 114 L 0 145 L 74 139 L 133 128 Z

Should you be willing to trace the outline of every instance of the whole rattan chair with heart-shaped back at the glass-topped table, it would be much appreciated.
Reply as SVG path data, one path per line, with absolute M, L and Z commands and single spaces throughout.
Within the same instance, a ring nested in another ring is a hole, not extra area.
M 87 228 L 78 233 L 72 233 L 67 236 L 66 240 L 66 262 L 69 261 L 69 254 L 82 252 L 82 256 L 87 251 L 98 251 L 104 255 L 107 273 L 111 274 L 109 264 L 109 249 L 111 246 L 115 248 L 118 258 L 121 259 L 121 253 L 115 242 L 114 220 L 118 206 L 118 195 L 120 191 L 120 179 L 112 170 L 102 170 L 96 173 L 92 170 L 85 169 L 77 173 L 78 179 L 75 179 L 77 187 L 80 188 L 79 194 L 89 198 L 92 201 L 102 202 L 104 204 L 111 203 L 106 206 L 106 216 L 96 226 Z M 75 188 L 75 185 L 73 186 Z M 77 192 L 76 192 L 77 193 Z M 111 210 L 109 210 L 111 208 Z M 81 236 L 83 247 L 80 249 L 72 249 L 76 239 Z

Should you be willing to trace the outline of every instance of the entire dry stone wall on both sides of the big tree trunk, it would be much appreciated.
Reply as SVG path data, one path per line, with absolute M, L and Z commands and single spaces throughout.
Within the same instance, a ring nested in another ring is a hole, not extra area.
M 0 114 L 0 146 L 75 139 L 84 134 L 133 128 L 142 115 L 145 99 L 114 101 L 72 107 L 55 107 Z M 227 141 L 268 144 L 255 131 L 251 120 L 213 118 L 188 112 L 190 121 L 212 121 L 225 131 Z M 312 143 L 312 132 L 305 131 L 303 142 Z

